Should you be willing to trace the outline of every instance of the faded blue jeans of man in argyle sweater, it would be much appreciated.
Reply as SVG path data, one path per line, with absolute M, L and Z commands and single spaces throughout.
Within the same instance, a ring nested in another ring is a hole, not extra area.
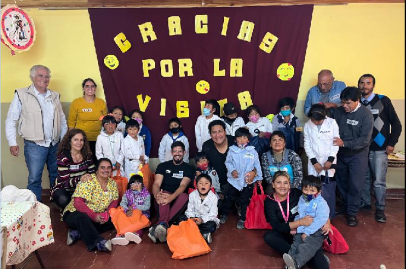
M 361 195 L 361 205 L 371 204 L 371 188 L 373 188 L 376 198 L 375 206 L 379 210 L 385 210 L 388 154 L 386 154 L 384 150 L 369 151 L 368 166 L 365 175 L 365 186 Z M 372 182 L 374 183 L 372 184 Z

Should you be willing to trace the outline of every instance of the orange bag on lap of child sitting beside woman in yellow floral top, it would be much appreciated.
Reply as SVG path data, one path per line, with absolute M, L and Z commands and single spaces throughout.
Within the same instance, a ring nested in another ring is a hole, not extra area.
M 133 209 L 131 217 L 125 215 L 122 207 L 111 208 L 109 213 L 117 234 L 136 232 L 151 225 L 149 219 L 139 209 Z

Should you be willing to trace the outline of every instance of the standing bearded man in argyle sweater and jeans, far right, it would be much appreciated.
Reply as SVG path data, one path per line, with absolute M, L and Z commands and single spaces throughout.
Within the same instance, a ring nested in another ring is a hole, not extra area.
M 371 74 L 362 75 L 358 80 L 361 90 L 361 102 L 374 116 L 372 142 L 369 146 L 368 170 L 365 175 L 365 186 L 361 194 L 360 210 L 371 210 L 371 182 L 375 194 L 375 220 L 386 222 L 385 194 L 388 154 L 392 153 L 398 142 L 402 125 L 390 99 L 374 93 L 375 77 Z M 390 127 L 390 128 L 389 128 Z

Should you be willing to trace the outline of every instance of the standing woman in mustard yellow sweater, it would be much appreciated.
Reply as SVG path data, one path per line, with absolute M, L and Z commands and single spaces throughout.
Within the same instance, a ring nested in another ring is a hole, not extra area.
M 101 115 L 107 115 L 106 102 L 95 95 L 96 83 L 91 78 L 82 82 L 83 97 L 76 98 L 69 108 L 67 126 L 69 129 L 82 129 L 89 140 L 93 158 L 95 156 L 96 140 L 100 135 Z

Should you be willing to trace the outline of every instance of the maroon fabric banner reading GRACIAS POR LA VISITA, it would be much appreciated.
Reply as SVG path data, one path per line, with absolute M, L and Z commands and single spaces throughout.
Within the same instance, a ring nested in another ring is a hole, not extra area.
M 279 112 L 280 98 L 297 99 L 312 12 L 313 5 L 89 9 L 107 105 L 145 110 L 150 157 L 167 121 L 180 117 L 193 156 L 201 101 L 227 99 L 247 122 L 241 109 L 251 103 L 266 116 Z M 210 88 L 196 90 L 201 80 Z

